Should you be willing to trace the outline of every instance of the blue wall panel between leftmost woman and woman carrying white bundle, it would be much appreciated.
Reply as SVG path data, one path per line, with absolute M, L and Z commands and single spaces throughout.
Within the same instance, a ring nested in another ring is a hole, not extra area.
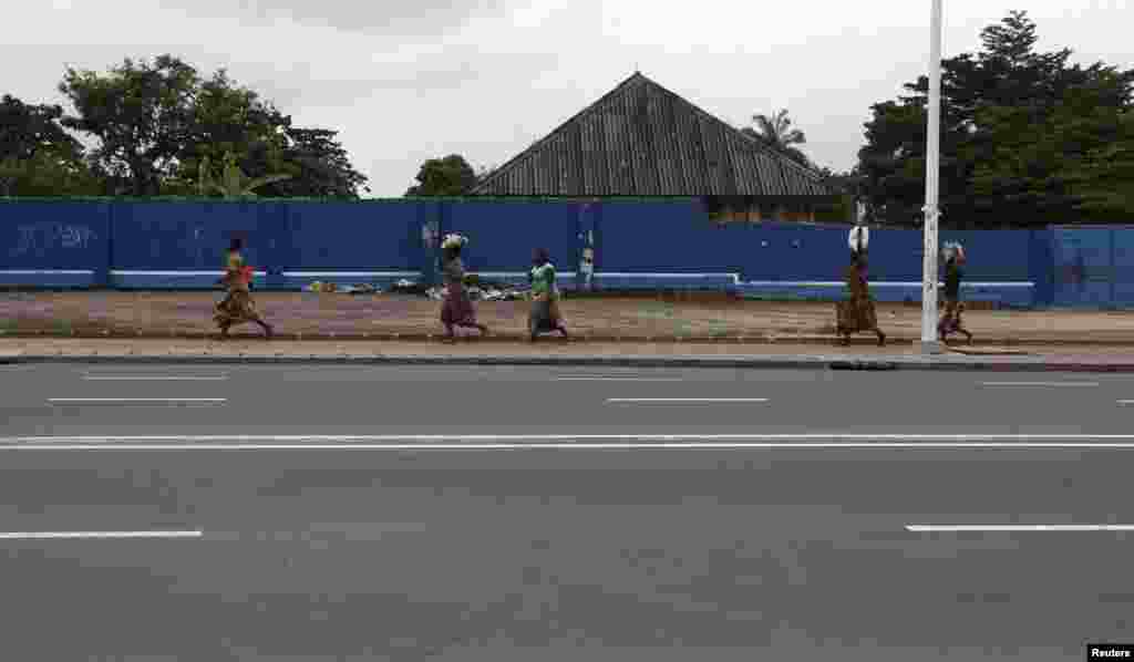
M 392 201 L 287 204 L 284 285 L 416 280 L 426 258 L 422 226 L 428 211 L 428 205 Z

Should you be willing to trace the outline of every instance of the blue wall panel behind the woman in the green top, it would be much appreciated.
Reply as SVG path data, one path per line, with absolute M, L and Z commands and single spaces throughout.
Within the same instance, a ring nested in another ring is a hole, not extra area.
M 465 269 L 496 280 L 527 281 L 532 252 L 547 248 L 560 274 L 578 266 L 579 205 L 567 202 L 462 202 L 447 204 L 442 234 L 468 237 Z

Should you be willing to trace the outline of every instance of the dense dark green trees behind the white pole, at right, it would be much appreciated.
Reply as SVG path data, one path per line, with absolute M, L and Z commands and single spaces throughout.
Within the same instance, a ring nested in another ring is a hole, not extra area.
M 981 33 L 982 50 L 942 61 L 942 224 L 1029 227 L 1128 215 L 1134 70 L 1038 52 L 1015 11 Z M 929 79 L 874 104 L 858 188 L 874 220 L 917 223 L 925 181 Z M 1123 193 L 1125 192 L 1125 193 Z

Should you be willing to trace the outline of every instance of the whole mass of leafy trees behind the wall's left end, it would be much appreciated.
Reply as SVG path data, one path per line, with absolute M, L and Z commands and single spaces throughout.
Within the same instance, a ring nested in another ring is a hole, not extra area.
M 240 181 L 254 183 L 261 195 L 357 197 L 370 190 L 337 131 L 294 126 L 225 69 L 203 78 L 170 54 L 126 59 L 105 74 L 68 68 L 59 91 L 74 114 L 10 96 L 0 104 L 0 194 L 200 195 L 202 178 L 237 186 L 237 170 L 226 160 L 235 160 L 247 179 Z M 95 146 L 84 153 L 68 130 Z M 204 172 L 204 163 L 226 166 Z M 52 186 L 52 177 L 62 179 Z

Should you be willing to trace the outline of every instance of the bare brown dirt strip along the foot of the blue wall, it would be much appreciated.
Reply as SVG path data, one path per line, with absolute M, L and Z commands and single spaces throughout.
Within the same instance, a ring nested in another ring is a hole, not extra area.
M 279 340 L 438 340 L 440 304 L 398 295 L 256 292 L 257 306 Z M 0 336 L 7 338 L 203 339 L 215 333 L 212 305 L 220 292 L 24 292 L 0 294 Z M 526 338 L 528 304 L 477 302 L 476 311 L 497 345 Z M 662 300 L 589 298 L 562 302 L 574 341 L 769 342 L 822 345 L 835 341 L 829 303 L 753 300 Z M 921 337 L 920 305 L 879 304 L 879 323 L 895 347 Z M 1134 348 L 1134 313 L 1083 311 L 967 311 L 965 323 L 978 346 L 1058 345 Z M 255 337 L 244 326 L 234 334 Z M 550 339 L 549 339 L 550 340 Z M 869 334 L 853 339 L 865 350 Z M 824 350 L 826 351 L 826 350 Z

